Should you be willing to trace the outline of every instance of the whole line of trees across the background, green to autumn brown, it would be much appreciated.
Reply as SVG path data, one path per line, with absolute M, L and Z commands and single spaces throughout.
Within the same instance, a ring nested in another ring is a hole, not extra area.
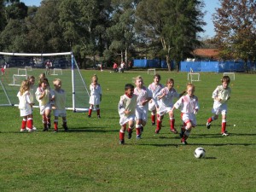
M 255 1 L 219 2 L 213 15 L 217 35 L 207 44 L 219 48 L 223 59 L 250 59 L 256 46 Z M 0 49 L 72 50 L 80 67 L 160 58 L 169 70 L 178 70 L 180 61 L 203 46 L 199 33 L 206 25 L 204 6 L 203 0 L 43 0 L 39 7 L 30 7 L 19 0 L 0 0 Z

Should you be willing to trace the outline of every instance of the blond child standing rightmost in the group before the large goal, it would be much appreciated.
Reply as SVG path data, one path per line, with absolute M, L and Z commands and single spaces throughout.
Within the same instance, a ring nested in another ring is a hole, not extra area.
M 54 79 L 53 84 L 55 90 L 52 90 L 52 101 L 54 102 L 54 115 L 55 115 L 55 132 L 58 131 L 58 119 L 62 118 L 62 126 L 65 131 L 67 129 L 67 113 L 66 113 L 66 92 L 61 89 L 61 79 Z

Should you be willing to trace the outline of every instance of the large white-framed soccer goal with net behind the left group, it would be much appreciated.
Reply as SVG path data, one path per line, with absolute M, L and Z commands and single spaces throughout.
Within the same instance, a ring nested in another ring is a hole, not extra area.
M 0 64 L 6 64 L 5 73 L 1 76 L 0 106 L 17 106 L 17 93 L 20 83 L 28 76 L 34 76 L 35 87 L 38 87 L 39 75 L 45 73 L 45 63 L 51 61 L 50 74 L 47 75 L 49 87 L 54 89 L 53 80 L 61 79 L 61 88 L 66 91 L 67 109 L 74 112 L 88 111 L 89 91 L 79 70 L 79 65 L 72 52 L 50 54 L 24 54 L 0 52 Z M 33 70 L 30 70 L 30 67 Z M 15 86 L 12 86 L 15 85 Z M 35 99 L 35 102 L 36 99 Z M 36 103 L 36 107 L 38 103 Z

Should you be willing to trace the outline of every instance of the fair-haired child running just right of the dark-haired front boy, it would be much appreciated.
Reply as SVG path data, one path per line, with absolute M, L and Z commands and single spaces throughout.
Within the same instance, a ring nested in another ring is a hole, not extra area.
M 135 79 L 136 88 L 134 94 L 137 95 L 137 107 L 136 107 L 136 131 L 137 139 L 141 138 L 143 127 L 148 120 L 148 102 L 152 99 L 152 93 L 146 87 L 143 86 L 143 78 L 137 76 Z

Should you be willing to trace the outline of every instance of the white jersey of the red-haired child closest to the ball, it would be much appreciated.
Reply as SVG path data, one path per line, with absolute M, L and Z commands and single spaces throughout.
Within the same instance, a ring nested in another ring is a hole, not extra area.
M 182 96 L 175 102 L 174 108 L 180 109 L 182 113 L 195 113 L 199 109 L 198 98 L 189 95 Z

